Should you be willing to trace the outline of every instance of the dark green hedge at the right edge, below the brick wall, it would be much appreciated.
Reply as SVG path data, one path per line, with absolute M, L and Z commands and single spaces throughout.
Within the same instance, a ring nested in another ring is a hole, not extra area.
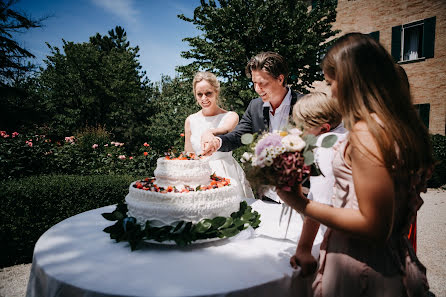
M 427 185 L 429 188 L 438 188 L 446 184 L 446 136 L 431 135 L 433 156 L 438 164 Z

